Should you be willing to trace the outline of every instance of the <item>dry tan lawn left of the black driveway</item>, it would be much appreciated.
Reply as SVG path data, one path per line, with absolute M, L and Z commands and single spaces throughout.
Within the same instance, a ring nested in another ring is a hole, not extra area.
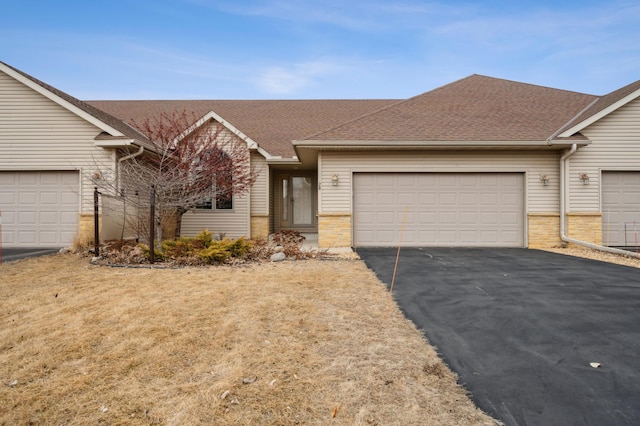
M 360 261 L 0 266 L 0 424 L 489 425 Z

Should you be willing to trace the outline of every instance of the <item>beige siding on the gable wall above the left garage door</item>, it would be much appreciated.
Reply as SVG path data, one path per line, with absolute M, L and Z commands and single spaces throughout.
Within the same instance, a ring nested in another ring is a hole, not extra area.
M 92 176 L 115 152 L 95 146 L 94 125 L 0 72 L 0 170 L 79 170 L 81 211 L 93 211 Z

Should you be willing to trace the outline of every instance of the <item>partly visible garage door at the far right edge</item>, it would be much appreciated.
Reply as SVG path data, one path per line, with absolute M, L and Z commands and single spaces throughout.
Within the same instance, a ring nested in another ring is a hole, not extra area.
M 640 244 L 640 172 L 602 172 L 602 241 Z

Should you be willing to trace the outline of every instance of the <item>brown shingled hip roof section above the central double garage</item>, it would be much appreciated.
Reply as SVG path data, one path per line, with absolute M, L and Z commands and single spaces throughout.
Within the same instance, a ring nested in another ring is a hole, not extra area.
M 596 99 L 474 74 L 305 141 L 546 141 Z

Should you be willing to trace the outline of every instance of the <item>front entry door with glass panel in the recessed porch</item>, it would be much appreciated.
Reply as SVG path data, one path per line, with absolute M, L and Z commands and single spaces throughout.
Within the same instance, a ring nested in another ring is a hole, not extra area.
M 315 175 L 281 174 L 278 176 L 278 192 L 280 229 L 315 229 Z

